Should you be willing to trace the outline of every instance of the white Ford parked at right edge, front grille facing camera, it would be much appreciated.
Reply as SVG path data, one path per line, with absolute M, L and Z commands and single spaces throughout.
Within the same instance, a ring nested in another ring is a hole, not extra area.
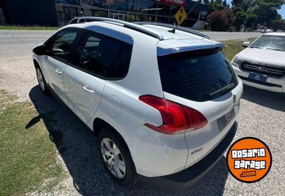
M 285 93 L 285 33 L 265 33 L 231 61 L 244 84 Z

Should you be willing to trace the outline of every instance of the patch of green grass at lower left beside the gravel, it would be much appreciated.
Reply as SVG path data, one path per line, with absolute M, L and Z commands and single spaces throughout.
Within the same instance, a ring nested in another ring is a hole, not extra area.
M 0 90 L 0 195 L 51 190 L 66 172 L 56 161 L 56 147 L 43 120 L 25 128 L 39 116 L 34 105 L 15 100 Z

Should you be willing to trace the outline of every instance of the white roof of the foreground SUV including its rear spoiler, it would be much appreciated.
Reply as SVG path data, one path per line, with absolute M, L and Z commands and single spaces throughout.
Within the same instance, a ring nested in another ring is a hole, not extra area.
M 128 23 L 127 23 L 128 24 Z M 157 48 L 158 55 L 167 55 L 172 54 L 179 51 L 188 51 L 188 50 L 197 50 L 197 49 L 205 49 L 205 48 L 221 48 L 225 47 L 225 44 L 219 43 L 216 41 L 212 41 L 205 37 L 201 37 L 197 34 L 193 34 L 190 32 L 185 32 L 183 30 L 176 29 L 175 33 L 169 32 L 168 30 L 172 30 L 173 28 L 151 25 L 151 24 L 133 24 L 130 23 L 131 27 L 126 28 L 125 23 L 116 23 L 116 21 L 94 21 L 94 22 L 86 22 L 79 24 L 71 24 L 67 25 L 63 28 L 68 27 L 77 27 L 92 31 L 97 31 L 98 27 L 107 28 L 108 31 L 112 31 L 112 35 L 116 38 L 116 32 L 120 32 L 123 34 L 129 35 L 134 40 L 142 39 L 142 33 L 148 35 L 146 32 L 151 32 L 150 36 L 145 38 L 149 39 L 157 39 Z M 135 27 L 135 28 L 134 28 Z M 141 28 L 142 30 L 136 29 L 136 27 Z M 198 32 L 199 33 L 199 32 Z M 152 35 L 157 34 L 158 37 L 154 37 Z M 145 35 L 144 35 L 145 36 Z M 160 39 L 162 38 L 162 39 Z

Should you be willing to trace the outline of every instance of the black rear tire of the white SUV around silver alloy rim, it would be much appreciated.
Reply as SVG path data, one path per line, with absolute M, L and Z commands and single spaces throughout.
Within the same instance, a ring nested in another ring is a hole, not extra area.
M 123 157 L 123 161 L 125 163 L 125 175 L 123 178 L 118 178 L 113 174 L 110 169 L 108 168 L 107 164 L 104 161 L 102 150 L 101 150 L 101 142 L 104 138 L 110 139 L 115 145 L 119 148 L 121 155 Z M 127 145 L 123 138 L 111 127 L 103 128 L 98 134 L 98 150 L 105 169 L 112 177 L 114 181 L 116 181 L 119 185 L 124 187 L 129 187 L 134 185 L 137 182 L 138 174 L 135 168 L 135 164 L 132 161 L 130 152 L 128 150 Z

